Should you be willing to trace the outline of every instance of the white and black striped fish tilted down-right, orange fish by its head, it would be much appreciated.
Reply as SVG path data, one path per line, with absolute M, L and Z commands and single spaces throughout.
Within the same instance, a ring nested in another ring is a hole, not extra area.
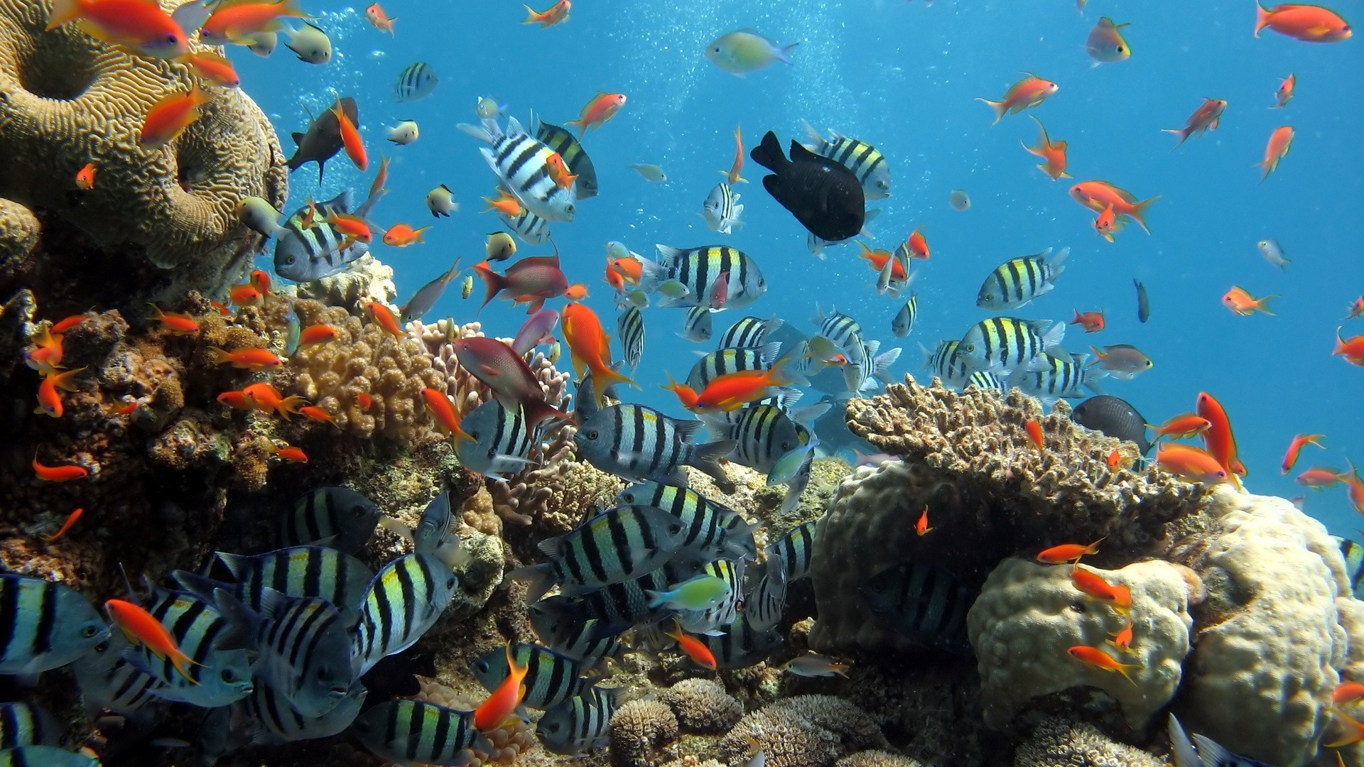
M 550 177 L 554 150 L 528 134 L 516 117 L 507 117 L 505 134 L 492 119 L 483 120 L 481 126 L 460 123 L 456 127 L 490 145 L 479 153 L 522 207 L 547 221 L 573 221 L 573 191 Z

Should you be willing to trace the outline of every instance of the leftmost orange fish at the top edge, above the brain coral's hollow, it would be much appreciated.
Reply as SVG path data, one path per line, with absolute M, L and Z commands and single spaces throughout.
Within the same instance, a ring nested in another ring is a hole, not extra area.
M 48 31 L 68 22 L 90 37 L 151 59 L 175 59 L 190 50 L 184 30 L 160 4 L 146 0 L 55 0 Z

